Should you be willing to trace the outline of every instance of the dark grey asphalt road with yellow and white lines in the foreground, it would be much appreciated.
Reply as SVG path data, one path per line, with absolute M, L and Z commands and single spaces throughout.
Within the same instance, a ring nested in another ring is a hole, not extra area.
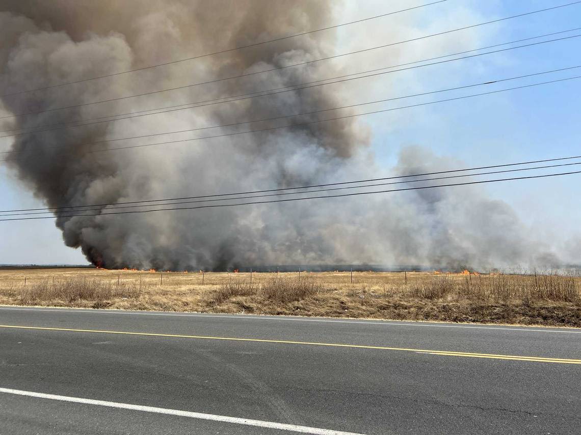
M 2 435 L 578 434 L 580 411 L 581 329 L 0 307 Z

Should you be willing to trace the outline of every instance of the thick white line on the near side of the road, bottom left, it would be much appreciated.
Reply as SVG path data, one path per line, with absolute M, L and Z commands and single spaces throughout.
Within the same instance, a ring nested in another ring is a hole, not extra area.
M 35 391 L 13 390 L 0 387 L 0 393 L 17 394 L 18 396 L 38 397 L 63 402 L 82 403 L 109 408 L 131 409 L 132 411 L 153 412 L 156 414 L 177 415 L 180 417 L 211 420 L 214 422 L 234 423 L 236 425 L 267 427 L 268 429 L 286 430 L 288 432 L 309 433 L 313 435 L 363 435 L 354 432 L 342 432 L 340 430 L 320 429 L 318 427 L 289 425 L 287 423 L 267 422 L 248 418 L 229 417 L 226 415 L 203 414 L 201 412 L 181 411 L 180 409 L 167 409 L 149 407 L 145 405 L 133 405 L 128 403 L 94 400 L 83 397 L 57 396 L 56 394 L 36 393 Z

